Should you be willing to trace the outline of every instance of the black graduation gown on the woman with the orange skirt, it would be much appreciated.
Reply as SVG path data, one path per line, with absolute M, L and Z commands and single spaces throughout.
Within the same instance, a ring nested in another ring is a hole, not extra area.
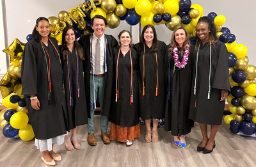
M 116 97 L 116 63 L 118 58 L 119 48 L 113 50 L 114 53 L 114 84 L 113 84 L 113 95 L 111 100 L 111 111 L 109 115 L 109 122 L 120 125 L 121 127 L 133 127 L 139 123 L 139 111 L 138 111 L 138 78 L 137 78 L 137 52 L 131 49 L 132 57 L 132 91 L 133 91 L 133 102 L 130 105 L 131 97 L 131 60 L 130 52 L 128 51 L 124 55 L 120 51 L 118 61 L 118 81 L 119 81 L 119 98 L 117 102 Z

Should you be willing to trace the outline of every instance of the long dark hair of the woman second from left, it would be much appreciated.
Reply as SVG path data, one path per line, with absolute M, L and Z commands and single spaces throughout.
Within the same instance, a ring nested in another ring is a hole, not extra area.
M 62 42 L 61 42 L 61 46 L 60 46 L 60 52 L 61 52 L 61 54 L 62 54 L 63 60 L 67 58 L 67 54 L 70 52 L 70 51 L 68 50 L 68 48 L 67 48 L 67 42 L 65 41 L 65 36 L 66 36 L 66 34 L 67 34 L 68 29 L 72 29 L 72 30 L 74 31 L 74 35 L 75 35 L 75 37 L 76 37 L 76 31 L 75 31 L 75 29 L 74 29 L 72 26 L 68 25 L 68 26 L 66 26 L 66 27 L 63 29 L 63 33 L 62 33 Z M 77 38 L 77 37 L 76 37 L 76 38 Z M 79 58 L 80 58 L 81 60 L 84 60 L 84 57 L 83 57 L 83 48 L 81 47 L 81 45 L 80 45 L 76 40 L 74 41 L 74 49 L 77 50 L 78 55 L 79 55 Z

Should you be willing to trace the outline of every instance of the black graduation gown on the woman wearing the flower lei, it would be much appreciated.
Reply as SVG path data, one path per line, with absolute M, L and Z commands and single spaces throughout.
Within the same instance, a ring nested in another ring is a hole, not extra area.
M 180 48 L 178 52 L 179 61 L 182 61 Z M 173 72 L 173 54 L 169 56 L 168 68 L 168 94 L 166 98 L 166 109 L 164 115 L 164 130 L 172 131 L 173 136 L 186 135 L 191 132 L 193 120 L 188 119 L 189 102 L 191 92 L 192 58 L 189 55 L 188 64 L 185 68 L 177 68 Z M 170 100 L 168 99 L 170 92 Z

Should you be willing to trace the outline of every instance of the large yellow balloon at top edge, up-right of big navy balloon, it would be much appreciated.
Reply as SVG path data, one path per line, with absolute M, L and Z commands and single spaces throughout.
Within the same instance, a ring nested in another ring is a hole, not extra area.
M 138 15 L 146 16 L 150 14 L 152 5 L 148 0 L 139 0 L 135 4 L 135 11 Z

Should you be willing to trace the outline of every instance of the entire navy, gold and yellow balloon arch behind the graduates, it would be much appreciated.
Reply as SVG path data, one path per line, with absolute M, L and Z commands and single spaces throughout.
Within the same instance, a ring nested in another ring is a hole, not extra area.
M 72 25 L 77 37 L 93 33 L 91 18 L 102 15 L 108 21 L 108 28 L 117 28 L 120 20 L 134 26 L 165 24 L 173 31 L 182 25 L 187 29 L 190 41 L 195 42 L 195 26 L 203 15 L 200 4 L 191 4 L 191 0 L 86 0 L 69 12 L 61 11 L 58 17 L 49 17 L 51 36 L 61 44 L 61 35 L 65 26 Z M 224 118 L 235 134 L 256 136 L 256 67 L 248 65 L 247 48 L 236 44 L 236 36 L 230 29 L 223 27 L 226 19 L 223 15 L 211 12 L 207 15 L 216 25 L 218 39 L 225 43 L 228 50 L 228 65 L 231 93 L 227 97 L 231 115 Z M 31 40 L 31 35 L 27 40 Z M 12 65 L 1 79 L 0 88 L 6 109 L 0 112 L 0 129 L 7 138 L 20 137 L 29 141 L 35 137 L 28 120 L 28 109 L 20 83 L 20 65 L 24 43 L 17 38 L 3 51 L 10 55 Z

